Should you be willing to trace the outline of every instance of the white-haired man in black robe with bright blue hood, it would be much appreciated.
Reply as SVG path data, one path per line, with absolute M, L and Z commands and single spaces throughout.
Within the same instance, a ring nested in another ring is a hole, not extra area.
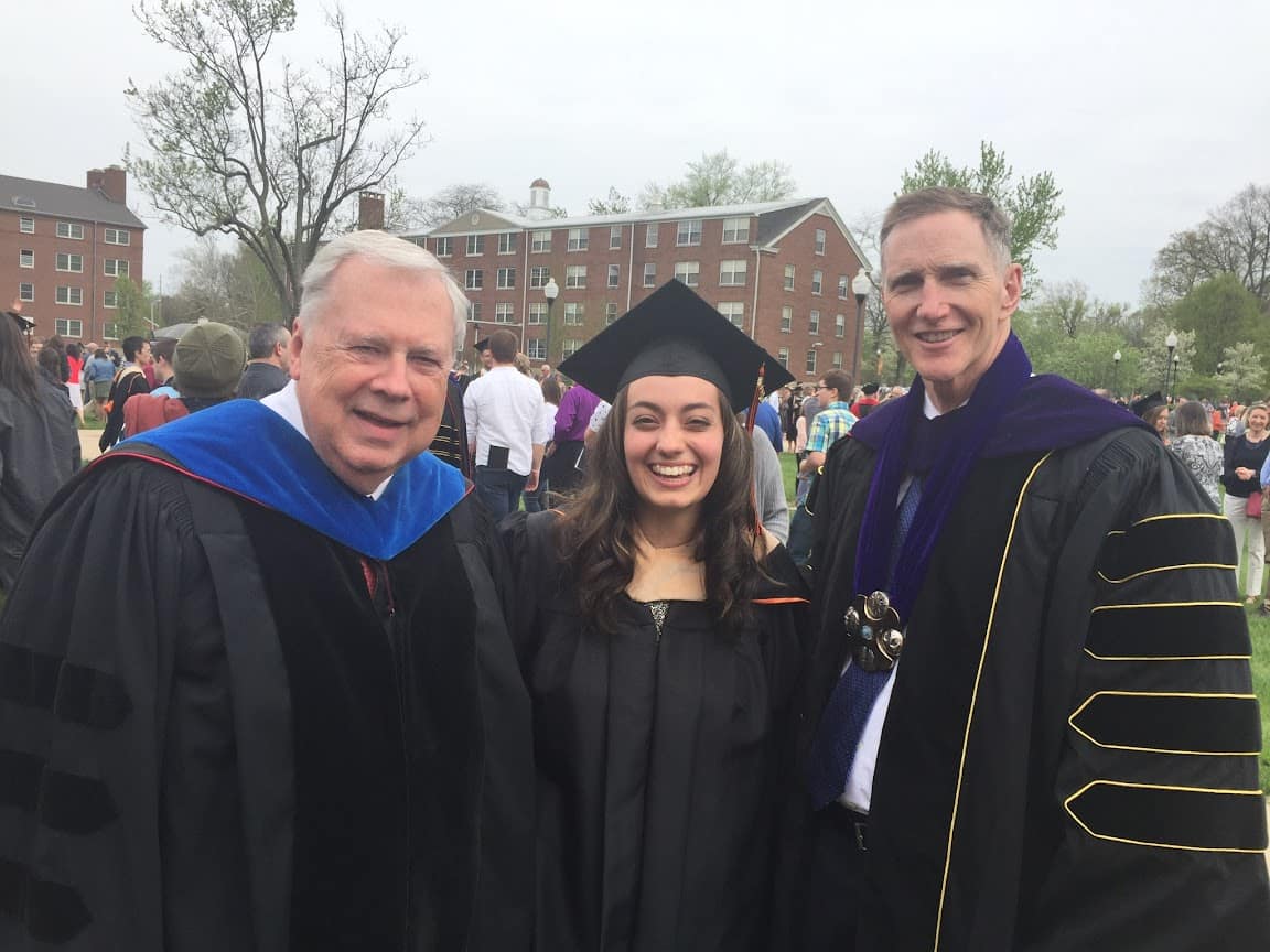
M 342 236 L 287 387 L 51 505 L 0 621 L 0 948 L 527 948 L 500 556 L 423 453 L 465 306 L 422 249 Z

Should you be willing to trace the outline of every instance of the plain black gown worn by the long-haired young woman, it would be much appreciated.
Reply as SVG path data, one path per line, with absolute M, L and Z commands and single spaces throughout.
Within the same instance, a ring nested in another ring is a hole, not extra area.
M 773 600 L 737 635 L 704 603 L 672 602 L 658 637 L 626 597 L 601 635 L 579 619 L 554 519 L 503 526 L 533 703 L 535 948 L 766 951 L 801 581 L 777 548 L 779 581 L 758 597 Z

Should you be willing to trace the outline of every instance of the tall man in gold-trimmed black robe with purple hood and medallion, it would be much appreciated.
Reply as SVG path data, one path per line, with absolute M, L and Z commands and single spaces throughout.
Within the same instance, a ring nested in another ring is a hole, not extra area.
M 1264 949 L 1231 531 L 1139 421 L 1031 376 L 1008 249 L 996 206 L 954 189 L 883 226 L 918 378 L 809 505 L 794 946 Z

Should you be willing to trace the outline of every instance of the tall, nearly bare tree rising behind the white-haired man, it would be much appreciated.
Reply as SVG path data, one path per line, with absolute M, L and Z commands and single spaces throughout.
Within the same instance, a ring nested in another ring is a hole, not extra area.
M 130 155 L 128 171 L 164 221 L 246 245 L 296 314 L 300 277 L 340 206 L 423 142 L 422 119 L 387 122 L 396 94 L 423 80 L 403 32 L 366 38 L 337 10 L 331 55 L 307 70 L 277 52 L 295 0 L 159 0 L 136 14 L 185 67 L 127 89 L 150 150 Z

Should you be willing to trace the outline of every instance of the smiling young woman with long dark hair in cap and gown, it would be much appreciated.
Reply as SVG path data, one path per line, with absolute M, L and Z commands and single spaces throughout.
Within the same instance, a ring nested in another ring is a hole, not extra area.
M 784 371 L 682 284 L 560 371 L 613 404 L 563 513 L 503 526 L 535 710 L 537 948 L 767 949 L 805 599 L 737 421 Z

